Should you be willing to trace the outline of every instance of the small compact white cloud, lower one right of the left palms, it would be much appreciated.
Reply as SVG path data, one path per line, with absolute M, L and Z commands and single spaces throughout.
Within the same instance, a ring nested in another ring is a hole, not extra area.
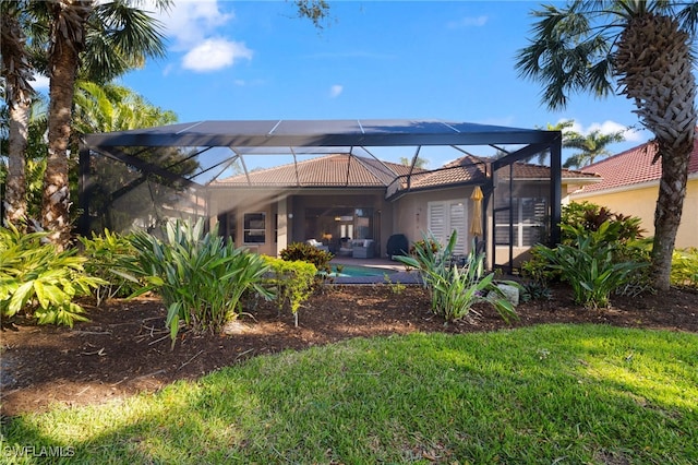
M 252 59 L 252 50 L 243 43 L 213 38 L 186 52 L 182 58 L 182 65 L 196 72 L 210 72 L 231 67 L 241 59 Z

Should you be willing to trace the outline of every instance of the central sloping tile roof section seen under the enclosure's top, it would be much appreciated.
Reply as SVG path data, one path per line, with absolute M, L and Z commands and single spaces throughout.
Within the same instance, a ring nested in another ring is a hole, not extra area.
M 409 166 L 357 155 L 335 154 L 251 171 L 248 176 L 236 175 L 215 181 L 212 186 L 385 188 L 397 176 L 408 172 Z

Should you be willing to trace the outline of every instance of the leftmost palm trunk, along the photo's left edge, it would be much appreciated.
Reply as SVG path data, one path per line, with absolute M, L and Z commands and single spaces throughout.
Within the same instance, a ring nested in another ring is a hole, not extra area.
M 34 90 L 33 68 L 21 26 L 22 9 L 15 1 L 0 1 L 0 52 L 8 108 L 8 178 L 3 222 L 20 226 L 26 217 L 25 158 L 29 108 Z

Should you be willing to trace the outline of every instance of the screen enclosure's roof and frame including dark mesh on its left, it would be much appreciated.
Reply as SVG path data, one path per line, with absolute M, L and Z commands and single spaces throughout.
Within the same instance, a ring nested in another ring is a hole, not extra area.
M 441 120 L 198 121 L 87 134 L 80 152 L 79 229 L 83 235 L 88 234 L 98 211 L 115 207 L 127 194 L 131 196 L 124 201 L 125 206 L 120 205 L 122 210 L 134 207 L 137 202 L 133 199 L 151 195 L 153 202 L 165 204 L 176 192 L 188 191 L 188 208 L 206 216 L 208 184 L 229 176 L 233 165 L 237 174 L 248 175 L 254 157 L 282 154 L 290 156 L 291 163 L 297 163 L 302 156 L 347 153 L 368 154 L 380 162 L 374 155 L 377 147 L 402 147 L 412 159 L 413 167 L 424 147 L 444 147 L 469 154 L 468 151 L 476 146 L 495 147 L 506 153 L 492 163 L 491 183 L 483 189 L 485 206 L 502 179 L 509 179 L 509 182 L 513 179 L 507 175 L 507 168 L 514 163 L 541 153 L 550 155 L 547 237 L 550 242 L 557 243 L 561 132 Z M 408 152 L 409 147 L 413 152 Z M 159 154 L 154 155 L 156 153 Z M 109 166 L 103 166 L 103 162 Z M 96 178 L 98 169 L 104 172 Z

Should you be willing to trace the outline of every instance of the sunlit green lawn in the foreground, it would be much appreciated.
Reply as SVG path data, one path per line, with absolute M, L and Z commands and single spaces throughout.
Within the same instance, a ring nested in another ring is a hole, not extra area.
M 10 463 L 46 463 L 11 451 L 50 445 L 99 464 L 696 464 L 698 335 L 542 325 L 352 339 L 2 428 Z

